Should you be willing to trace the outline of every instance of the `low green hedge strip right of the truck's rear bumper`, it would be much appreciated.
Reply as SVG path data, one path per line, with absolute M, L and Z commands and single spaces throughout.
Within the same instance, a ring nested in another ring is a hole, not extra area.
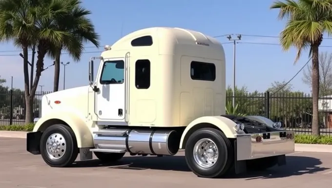
M 332 136 L 321 135 L 304 135 L 296 134 L 295 143 L 308 143 L 308 144 L 332 144 Z

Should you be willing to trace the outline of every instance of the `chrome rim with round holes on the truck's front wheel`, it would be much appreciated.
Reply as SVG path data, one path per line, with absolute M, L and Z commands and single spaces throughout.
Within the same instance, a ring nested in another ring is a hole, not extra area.
M 47 138 L 46 151 L 50 159 L 60 159 L 66 152 L 66 141 L 59 133 L 54 133 Z

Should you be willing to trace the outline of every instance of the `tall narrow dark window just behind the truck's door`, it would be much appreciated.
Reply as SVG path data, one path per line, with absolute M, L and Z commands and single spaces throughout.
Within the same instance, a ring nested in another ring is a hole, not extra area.
M 135 64 L 135 86 L 137 89 L 150 87 L 151 72 L 150 61 L 147 59 L 137 60 Z

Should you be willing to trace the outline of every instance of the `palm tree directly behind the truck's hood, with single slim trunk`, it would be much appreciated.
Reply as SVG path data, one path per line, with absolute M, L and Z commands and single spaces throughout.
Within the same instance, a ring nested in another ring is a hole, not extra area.
M 48 55 L 54 61 L 54 87 L 53 92 L 59 90 L 60 56 L 62 49 L 66 50 L 74 61 L 80 61 L 84 50 L 83 43 L 91 42 L 99 47 L 100 36 L 95 32 L 94 25 L 87 18 L 90 11 L 84 9 L 81 0 L 68 0 L 69 9 L 64 17 L 57 20 L 59 30 L 68 31 L 69 36 L 64 38 L 60 45 L 53 45 Z

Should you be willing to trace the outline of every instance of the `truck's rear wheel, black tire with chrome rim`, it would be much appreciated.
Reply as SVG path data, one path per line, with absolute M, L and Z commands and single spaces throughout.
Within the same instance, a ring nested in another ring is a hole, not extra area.
M 218 178 L 228 172 L 234 161 L 234 153 L 223 132 L 202 128 L 189 136 L 185 158 L 190 170 L 198 177 Z

